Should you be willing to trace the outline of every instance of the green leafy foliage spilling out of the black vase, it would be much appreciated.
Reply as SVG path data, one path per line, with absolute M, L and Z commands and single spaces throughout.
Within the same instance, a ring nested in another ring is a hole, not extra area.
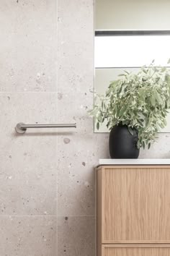
M 170 60 L 169 62 L 170 63 Z M 133 135 L 138 130 L 137 147 L 150 148 L 156 133 L 166 126 L 166 115 L 170 108 L 170 70 L 155 67 L 154 61 L 141 67 L 138 74 L 124 71 L 120 79 L 112 81 L 105 95 L 96 95 L 94 116 L 99 129 L 107 121 L 107 128 L 125 124 Z

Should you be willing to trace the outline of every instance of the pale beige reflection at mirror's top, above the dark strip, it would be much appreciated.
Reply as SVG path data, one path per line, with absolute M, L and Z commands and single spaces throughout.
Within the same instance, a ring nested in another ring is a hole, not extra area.
M 169 0 L 95 0 L 95 30 L 169 30 Z

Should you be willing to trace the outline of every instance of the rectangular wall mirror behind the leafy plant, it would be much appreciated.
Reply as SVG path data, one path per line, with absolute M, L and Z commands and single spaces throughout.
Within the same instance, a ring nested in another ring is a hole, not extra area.
M 95 0 L 95 91 L 104 94 L 123 70 L 138 72 L 155 59 L 168 67 L 170 58 L 170 1 Z M 106 124 L 94 132 L 109 132 Z M 170 114 L 167 126 L 170 132 Z

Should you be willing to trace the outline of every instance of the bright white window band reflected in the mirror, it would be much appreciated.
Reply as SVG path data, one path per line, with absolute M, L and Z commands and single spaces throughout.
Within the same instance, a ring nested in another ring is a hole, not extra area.
M 170 35 L 96 36 L 95 67 L 167 66 L 169 46 Z

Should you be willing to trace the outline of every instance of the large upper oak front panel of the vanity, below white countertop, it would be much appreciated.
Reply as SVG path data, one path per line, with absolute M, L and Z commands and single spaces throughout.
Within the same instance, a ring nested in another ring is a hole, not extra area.
M 103 177 L 102 243 L 170 243 L 170 168 L 105 168 Z

